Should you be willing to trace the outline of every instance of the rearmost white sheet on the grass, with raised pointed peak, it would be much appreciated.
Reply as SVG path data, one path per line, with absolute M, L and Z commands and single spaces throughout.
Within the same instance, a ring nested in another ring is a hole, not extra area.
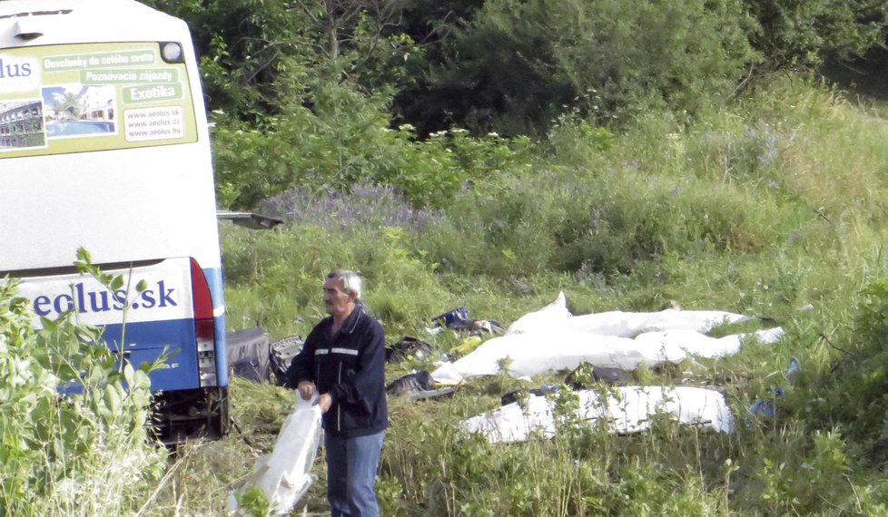
M 519 317 L 508 326 L 505 335 L 549 332 L 554 327 L 602 336 L 636 337 L 642 332 L 691 330 L 706 333 L 724 323 L 739 323 L 750 317 L 721 310 L 680 310 L 658 312 L 623 312 L 612 310 L 573 316 L 567 310 L 564 291 L 555 301 L 538 311 Z

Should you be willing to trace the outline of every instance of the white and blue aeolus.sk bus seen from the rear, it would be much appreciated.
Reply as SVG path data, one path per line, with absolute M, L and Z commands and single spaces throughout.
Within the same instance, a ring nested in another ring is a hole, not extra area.
M 81 247 L 147 288 L 78 275 Z M 134 365 L 173 353 L 152 374 L 164 441 L 226 433 L 210 141 L 182 20 L 132 0 L 0 0 L 5 277 L 35 326 L 74 311 Z

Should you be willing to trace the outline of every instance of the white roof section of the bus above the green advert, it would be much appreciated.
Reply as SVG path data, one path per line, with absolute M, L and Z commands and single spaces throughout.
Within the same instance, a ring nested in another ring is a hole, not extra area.
M 123 24 L 122 19 L 140 23 Z M 0 48 L 77 43 L 84 37 L 93 42 L 181 41 L 183 27 L 183 21 L 134 0 L 0 0 Z

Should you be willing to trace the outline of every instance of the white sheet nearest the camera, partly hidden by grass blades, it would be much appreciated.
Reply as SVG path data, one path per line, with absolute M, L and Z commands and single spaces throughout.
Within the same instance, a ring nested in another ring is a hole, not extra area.
M 666 415 L 682 424 L 699 425 L 722 433 L 734 430 L 734 417 L 725 395 L 691 386 L 620 386 L 599 395 L 578 391 L 577 415 L 592 424 L 607 425 L 610 433 L 636 433 L 650 427 L 651 416 Z M 488 442 L 523 442 L 531 434 L 556 434 L 555 401 L 530 395 L 524 407 L 517 402 L 498 407 L 459 423 L 463 434 L 482 434 Z

